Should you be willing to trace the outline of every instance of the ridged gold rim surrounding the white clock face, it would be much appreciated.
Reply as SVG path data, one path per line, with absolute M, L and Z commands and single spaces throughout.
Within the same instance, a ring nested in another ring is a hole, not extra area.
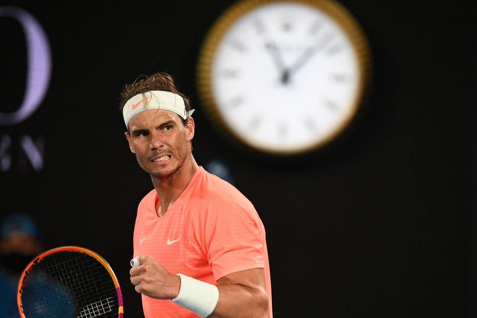
M 262 5 L 280 2 L 310 5 L 327 14 L 342 27 L 342 30 L 348 36 L 348 39 L 350 40 L 358 59 L 358 89 L 347 118 L 325 138 L 311 146 L 298 150 L 281 151 L 266 147 L 259 147 L 249 143 L 238 133 L 236 133 L 235 130 L 224 120 L 218 109 L 212 92 L 213 57 L 223 36 L 240 17 L 249 11 Z M 202 43 L 203 44 L 199 51 L 197 62 L 196 82 L 198 97 L 205 112 L 208 114 L 209 121 L 212 122 L 212 124 L 226 138 L 228 137 L 229 140 L 239 142 L 242 146 L 245 146 L 248 149 L 258 151 L 266 155 L 280 157 L 304 155 L 316 151 L 335 140 L 347 129 L 351 121 L 356 117 L 356 114 L 358 113 L 364 99 L 365 92 L 369 86 L 371 73 L 371 49 L 369 41 L 362 26 L 356 20 L 354 15 L 340 2 L 335 0 L 242 0 L 231 5 L 215 20 Z

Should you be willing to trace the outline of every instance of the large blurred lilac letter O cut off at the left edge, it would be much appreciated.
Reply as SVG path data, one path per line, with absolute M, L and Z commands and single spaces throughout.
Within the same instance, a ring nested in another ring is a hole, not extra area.
M 20 108 L 12 113 L 0 112 L 0 125 L 15 125 L 30 116 L 45 97 L 51 74 L 51 54 L 48 38 L 33 15 L 16 6 L 0 6 L 0 17 L 16 19 L 23 27 L 26 38 L 26 89 Z

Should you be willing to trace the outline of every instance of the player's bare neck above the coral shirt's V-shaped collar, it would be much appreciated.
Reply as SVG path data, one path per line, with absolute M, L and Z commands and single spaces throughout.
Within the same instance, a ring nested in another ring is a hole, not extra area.
M 186 159 L 172 174 L 164 177 L 151 175 L 151 180 L 153 181 L 154 188 L 156 189 L 159 198 L 158 206 L 156 206 L 156 211 L 159 217 L 164 216 L 169 210 L 175 200 L 177 200 L 179 195 L 187 187 L 190 179 L 192 179 L 192 176 L 198 169 L 199 165 L 191 154 L 190 158 Z

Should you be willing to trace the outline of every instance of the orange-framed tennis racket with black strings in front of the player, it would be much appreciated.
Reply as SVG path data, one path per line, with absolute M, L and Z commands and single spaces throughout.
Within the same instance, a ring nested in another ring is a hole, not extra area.
M 123 317 L 123 297 L 111 266 L 79 246 L 38 255 L 23 270 L 17 292 L 21 318 Z

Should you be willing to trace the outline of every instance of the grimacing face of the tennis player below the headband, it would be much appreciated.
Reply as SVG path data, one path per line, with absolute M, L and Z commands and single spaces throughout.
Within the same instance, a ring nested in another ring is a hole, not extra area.
M 194 120 L 184 126 L 181 118 L 168 110 L 149 109 L 129 121 L 126 133 L 131 152 L 149 174 L 163 178 L 179 169 L 190 158 Z

